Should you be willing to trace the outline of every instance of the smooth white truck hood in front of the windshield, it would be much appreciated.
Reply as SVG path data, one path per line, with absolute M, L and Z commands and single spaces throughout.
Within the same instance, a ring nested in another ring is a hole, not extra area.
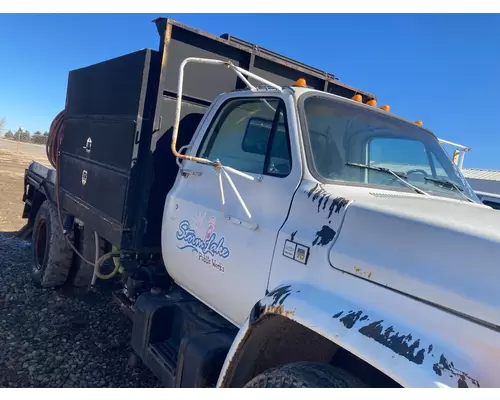
M 489 207 L 372 192 L 347 207 L 329 260 L 334 268 L 500 326 L 500 212 Z

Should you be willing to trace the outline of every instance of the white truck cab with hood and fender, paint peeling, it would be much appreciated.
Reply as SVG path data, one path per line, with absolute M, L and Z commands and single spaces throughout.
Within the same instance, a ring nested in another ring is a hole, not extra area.
M 279 314 L 403 386 L 498 384 L 487 365 L 500 346 L 500 215 L 432 132 L 374 105 L 265 87 L 221 95 L 185 154 L 164 263 L 240 328 L 233 353 L 256 313 Z

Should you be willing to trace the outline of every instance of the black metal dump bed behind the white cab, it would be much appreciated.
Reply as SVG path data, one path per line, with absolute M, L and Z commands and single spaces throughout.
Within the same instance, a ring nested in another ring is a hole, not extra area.
M 279 85 L 305 78 L 319 90 L 373 98 L 332 74 L 232 36 L 212 36 L 164 18 L 155 22 L 159 51 L 140 50 L 70 72 L 59 171 L 67 212 L 112 244 L 146 254 L 160 251 L 163 205 L 178 172 L 170 139 L 185 58 L 231 60 Z M 178 147 L 189 142 L 217 95 L 243 87 L 224 68 L 191 64 Z

